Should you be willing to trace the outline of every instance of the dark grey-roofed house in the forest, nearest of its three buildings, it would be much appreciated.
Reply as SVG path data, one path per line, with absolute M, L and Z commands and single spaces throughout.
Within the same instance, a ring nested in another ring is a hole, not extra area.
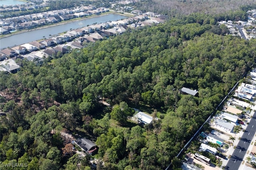
M 88 154 L 94 154 L 97 150 L 95 143 L 85 138 L 77 139 L 74 143 Z

